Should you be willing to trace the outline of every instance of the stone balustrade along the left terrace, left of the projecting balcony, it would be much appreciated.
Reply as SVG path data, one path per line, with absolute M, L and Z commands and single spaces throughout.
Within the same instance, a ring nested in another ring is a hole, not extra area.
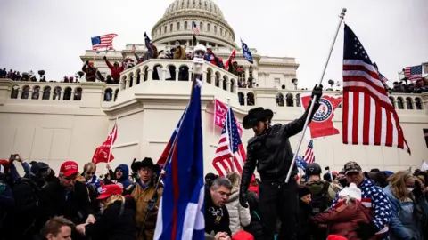
M 119 84 L 21 82 L 0 79 L 0 103 L 9 100 L 114 101 Z

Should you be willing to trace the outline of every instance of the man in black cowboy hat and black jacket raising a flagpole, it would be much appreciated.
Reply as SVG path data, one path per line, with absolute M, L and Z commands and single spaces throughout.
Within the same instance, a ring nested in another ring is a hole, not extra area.
M 292 166 L 292 177 L 285 183 L 287 172 L 292 164 L 292 148 L 289 138 L 303 130 L 306 118 L 309 123 L 319 108 L 319 99 L 323 94 L 323 85 L 315 86 L 312 99 L 317 102 L 309 116 L 309 107 L 299 119 L 289 124 L 270 122 L 274 113 L 269 109 L 253 108 L 243 117 L 243 127 L 253 129 L 255 136 L 248 141 L 247 160 L 243 166 L 240 189 L 240 204 L 247 207 L 246 194 L 252 173 L 257 165 L 261 183 L 259 185 L 259 211 L 263 222 L 265 239 L 274 239 L 276 220 L 281 220 L 278 239 L 296 239 L 296 215 L 298 210 L 297 182 L 294 176 L 297 167 Z

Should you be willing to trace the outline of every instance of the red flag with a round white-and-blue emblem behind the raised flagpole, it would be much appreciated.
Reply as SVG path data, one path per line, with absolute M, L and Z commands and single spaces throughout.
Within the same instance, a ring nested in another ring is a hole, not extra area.
M 305 93 L 300 95 L 300 102 L 303 108 L 308 108 L 311 94 Z M 342 103 L 342 96 L 323 95 L 319 100 L 317 112 L 312 118 L 312 122 L 308 125 L 309 140 L 339 134 L 339 130 L 334 128 L 333 116 L 334 110 Z

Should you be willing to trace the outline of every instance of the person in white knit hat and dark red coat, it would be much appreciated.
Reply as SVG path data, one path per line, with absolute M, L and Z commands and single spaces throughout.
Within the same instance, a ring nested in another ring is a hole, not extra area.
M 350 183 L 350 187 L 339 192 L 339 201 L 333 209 L 317 214 L 311 220 L 320 225 L 328 226 L 328 233 L 345 236 L 349 240 L 359 240 L 357 229 L 361 223 L 372 220 L 370 212 L 361 204 L 361 190 Z

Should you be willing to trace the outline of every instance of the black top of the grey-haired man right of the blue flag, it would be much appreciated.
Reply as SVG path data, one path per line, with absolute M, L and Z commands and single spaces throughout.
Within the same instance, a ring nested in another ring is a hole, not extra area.
M 211 194 L 209 190 L 205 191 L 204 199 L 205 207 L 205 233 L 216 235 L 218 232 L 225 232 L 229 236 L 232 236 L 229 224 L 229 212 L 227 212 L 226 206 L 218 207 L 212 203 Z

